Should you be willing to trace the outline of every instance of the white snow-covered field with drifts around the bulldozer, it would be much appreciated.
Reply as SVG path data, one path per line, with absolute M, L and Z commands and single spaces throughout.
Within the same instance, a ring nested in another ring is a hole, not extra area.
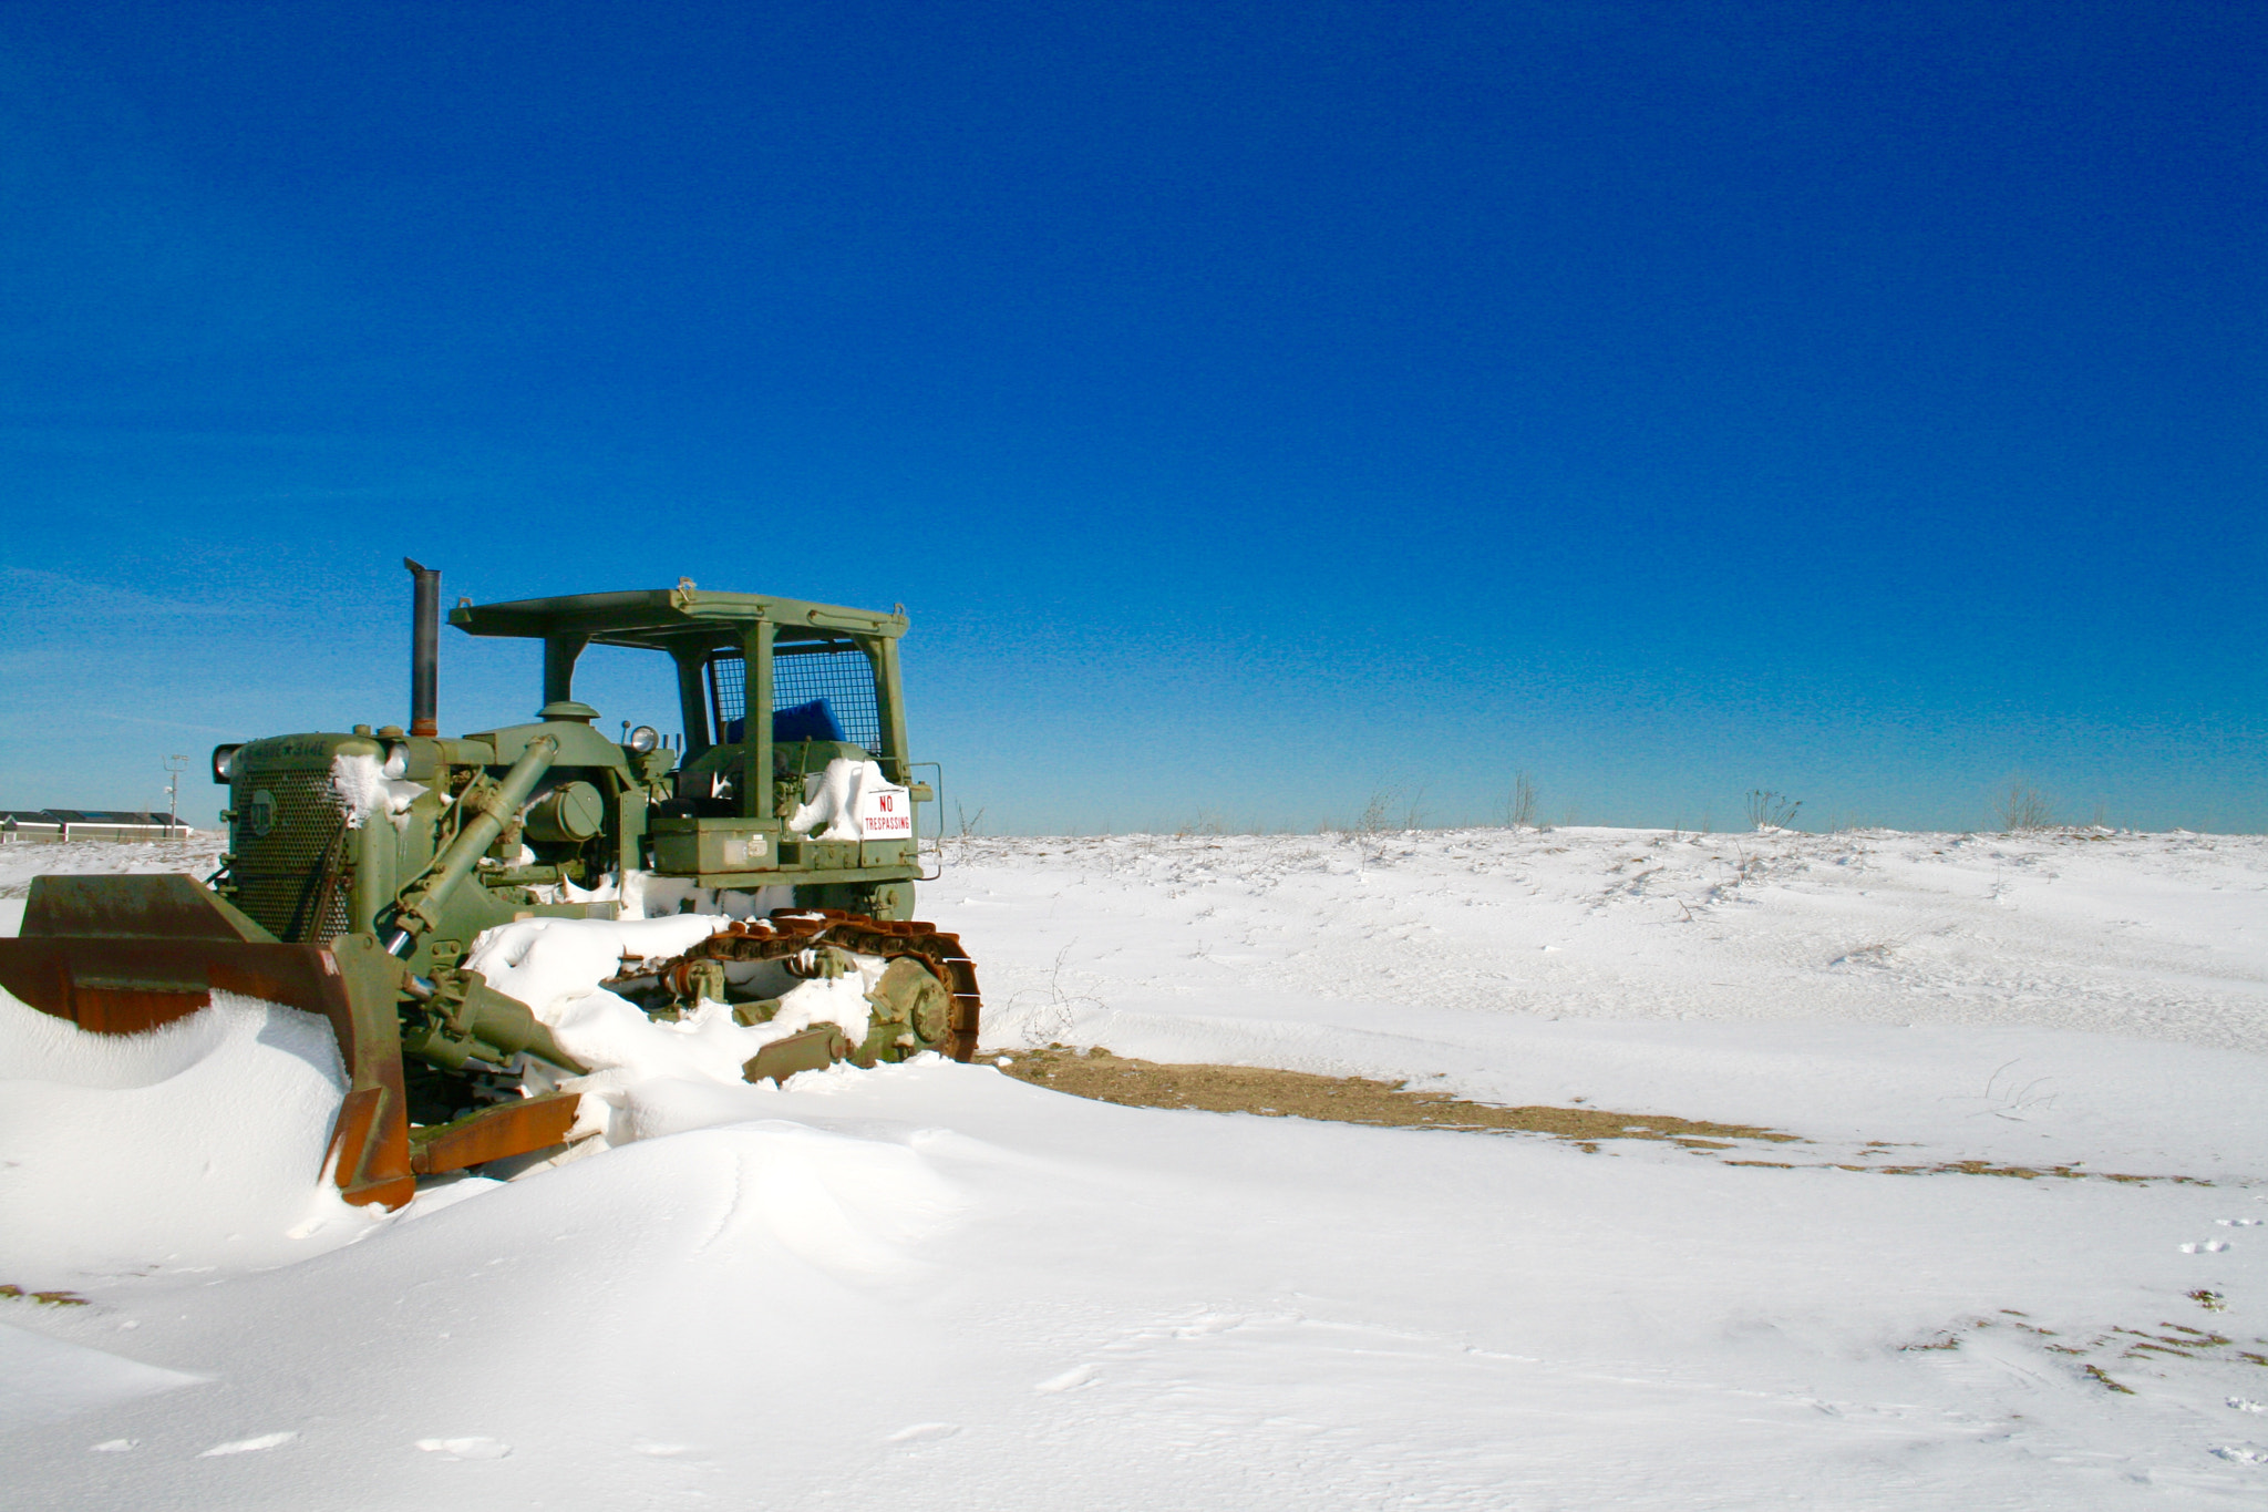
M 66 859 L 32 850 L 0 898 Z M 306 1020 L 88 1043 L 0 1002 L 0 1283 L 88 1299 L 0 1301 L 0 1505 L 2268 1494 L 2263 839 L 973 841 L 923 914 L 982 966 L 987 1056 L 1801 1143 L 1588 1154 L 932 1061 L 649 1086 L 649 1138 L 374 1220 L 306 1181 L 338 1095 Z

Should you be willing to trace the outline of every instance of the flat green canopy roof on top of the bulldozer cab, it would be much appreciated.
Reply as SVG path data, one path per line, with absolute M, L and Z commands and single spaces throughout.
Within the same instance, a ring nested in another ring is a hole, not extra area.
M 467 635 L 531 639 L 569 635 L 599 646 L 646 646 L 653 651 L 671 651 L 687 642 L 710 646 L 733 642 L 746 626 L 767 619 L 778 626 L 780 642 L 841 639 L 844 635 L 896 639 L 905 635 L 903 612 L 880 614 L 767 594 L 714 594 L 699 587 L 460 603 L 449 610 L 449 623 Z

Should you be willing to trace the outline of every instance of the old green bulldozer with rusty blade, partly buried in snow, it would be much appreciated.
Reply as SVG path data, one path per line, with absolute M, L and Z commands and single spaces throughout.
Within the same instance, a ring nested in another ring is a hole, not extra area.
M 465 635 L 542 642 L 542 707 L 442 737 L 440 571 L 404 567 L 408 725 L 218 746 L 220 868 L 36 877 L 18 938 L 0 938 L 0 988 L 93 1034 L 156 1029 L 215 991 L 320 1013 L 347 1090 L 313 1177 L 386 1208 L 422 1177 L 542 1158 L 576 1127 L 576 1077 L 592 1068 L 465 966 L 483 932 L 517 920 L 642 916 L 646 898 L 744 914 L 608 982 L 655 1018 L 712 1000 L 760 1025 L 782 972 L 866 968 L 860 1043 L 837 1025 L 785 1034 L 742 1068 L 748 1081 L 975 1052 L 975 966 L 914 918 L 914 884 L 934 880 L 921 809 L 939 768 L 909 759 L 903 605 L 692 580 L 458 601 L 449 623 Z M 683 730 L 610 737 L 574 696 L 590 646 L 665 655 Z

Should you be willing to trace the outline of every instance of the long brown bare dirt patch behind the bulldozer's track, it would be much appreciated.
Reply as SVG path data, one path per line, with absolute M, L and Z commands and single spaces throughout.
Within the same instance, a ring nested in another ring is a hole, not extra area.
M 1318 1077 L 1263 1065 L 1161 1065 L 1109 1050 L 1025 1050 L 1002 1070 L 1021 1081 L 1073 1097 L 1129 1108 L 1202 1108 L 1256 1118 L 1322 1118 L 1393 1129 L 1465 1129 L 1474 1133 L 1547 1133 L 1583 1149 L 1601 1140 L 1669 1140 L 1687 1149 L 1735 1149 L 1735 1140 L 1794 1143 L 1794 1133 L 1751 1124 L 1710 1124 L 1660 1113 L 1606 1108 L 1504 1108 L 1449 1093 L 1411 1090 L 1406 1081 Z

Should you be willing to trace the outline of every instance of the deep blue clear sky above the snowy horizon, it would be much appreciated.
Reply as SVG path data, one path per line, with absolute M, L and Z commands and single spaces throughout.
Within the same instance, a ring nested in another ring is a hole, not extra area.
M 2259 830 L 2261 77 L 2220 2 L 16 0 L 0 807 L 401 719 L 408 553 L 903 601 L 987 830 Z

